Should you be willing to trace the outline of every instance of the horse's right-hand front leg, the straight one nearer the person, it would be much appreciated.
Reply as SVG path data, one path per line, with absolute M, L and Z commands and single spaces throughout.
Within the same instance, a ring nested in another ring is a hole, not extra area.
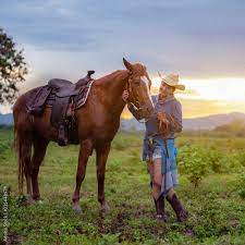
M 105 172 L 110 147 L 111 147 L 110 143 L 96 147 L 98 201 L 101 205 L 102 211 L 109 211 L 109 206 L 105 199 Z

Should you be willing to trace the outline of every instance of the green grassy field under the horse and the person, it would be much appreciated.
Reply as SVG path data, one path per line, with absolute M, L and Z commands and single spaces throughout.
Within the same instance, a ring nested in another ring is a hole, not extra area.
M 74 213 L 78 147 L 56 144 L 50 144 L 39 174 L 42 201 L 23 206 L 12 144 L 12 131 L 0 131 L 0 187 L 1 195 L 4 186 L 9 189 L 8 234 L 13 244 L 245 244 L 245 138 L 179 137 L 176 192 L 191 213 L 185 223 L 175 221 L 168 204 L 170 221 L 154 218 L 139 134 L 119 133 L 113 140 L 106 173 L 109 213 L 99 211 L 94 155 L 82 186 L 83 212 Z M 3 222 L 0 231 L 2 241 Z

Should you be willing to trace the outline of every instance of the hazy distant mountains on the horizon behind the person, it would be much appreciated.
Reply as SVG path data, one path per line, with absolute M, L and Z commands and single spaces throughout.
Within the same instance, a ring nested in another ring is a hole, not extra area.
M 232 121 L 245 122 L 245 113 L 232 112 L 229 114 L 213 114 L 194 119 L 183 119 L 183 130 L 213 130 L 217 126 L 229 124 Z M 145 124 L 138 123 L 135 119 L 121 120 L 122 131 L 145 131 Z

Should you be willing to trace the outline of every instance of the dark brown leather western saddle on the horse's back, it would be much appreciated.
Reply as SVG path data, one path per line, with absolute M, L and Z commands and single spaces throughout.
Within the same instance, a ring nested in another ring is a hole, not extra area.
M 88 71 L 87 75 L 73 84 L 66 79 L 53 78 L 48 85 L 39 87 L 32 100 L 27 102 L 30 114 L 40 117 L 45 107 L 51 107 L 51 125 L 58 128 L 58 144 L 78 144 L 77 125 L 74 110 L 81 108 L 87 99 L 94 82 Z

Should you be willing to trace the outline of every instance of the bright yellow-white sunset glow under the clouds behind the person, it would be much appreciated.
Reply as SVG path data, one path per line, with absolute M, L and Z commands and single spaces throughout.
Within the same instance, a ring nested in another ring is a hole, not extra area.
M 158 94 L 160 77 L 151 77 L 151 94 Z M 208 79 L 182 78 L 185 91 L 176 90 L 182 102 L 183 117 L 196 118 L 217 113 L 245 113 L 245 78 L 223 77 Z

